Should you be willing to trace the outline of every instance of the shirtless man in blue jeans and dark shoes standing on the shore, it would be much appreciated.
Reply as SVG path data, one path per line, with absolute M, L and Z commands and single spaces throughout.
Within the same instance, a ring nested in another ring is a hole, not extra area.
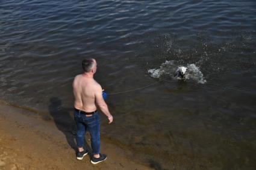
M 93 79 L 97 70 L 96 60 L 93 58 L 84 59 L 82 62 L 83 74 L 79 74 L 73 80 L 73 94 L 75 96 L 75 122 L 77 127 L 76 145 L 78 152 L 76 159 L 83 160 L 88 153 L 84 150 L 84 134 L 89 130 L 91 136 L 92 159 L 93 164 L 107 159 L 105 154 L 101 154 L 99 125 L 100 119 L 97 111 L 98 108 L 107 116 L 108 123 L 112 123 L 113 117 L 108 111 L 108 106 L 102 97 L 102 88 L 98 82 Z

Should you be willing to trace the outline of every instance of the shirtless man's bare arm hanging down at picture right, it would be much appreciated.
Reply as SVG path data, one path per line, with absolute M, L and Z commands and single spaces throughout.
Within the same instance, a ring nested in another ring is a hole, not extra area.
M 99 109 L 101 109 L 101 111 L 108 117 L 108 121 L 109 121 L 108 123 L 112 123 L 113 117 L 110 114 L 110 111 L 108 111 L 108 106 L 102 97 L 101 85 L 96 86 L 95 100 L 96 100 L 96 105 L 98 105 Z

